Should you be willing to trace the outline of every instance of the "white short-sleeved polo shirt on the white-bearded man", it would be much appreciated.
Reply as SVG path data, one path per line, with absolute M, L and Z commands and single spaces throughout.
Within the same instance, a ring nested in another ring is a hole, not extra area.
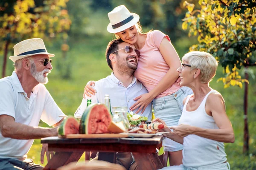
M 58 123 L 64 115 L 44 85 L 36 85 L 30 98 L 23 90 L 15 71 L 12 76 L 0 79 L 0 115 L 9 115 L 15 122 L 38 126 L 40 119 L 49 126 Z M 0 133 L 0 158 L 24 160 L 34 139 L 5 138 Z

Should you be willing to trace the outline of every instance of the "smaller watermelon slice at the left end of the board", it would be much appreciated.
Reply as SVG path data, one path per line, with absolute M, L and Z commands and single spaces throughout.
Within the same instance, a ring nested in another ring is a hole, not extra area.
M 79 133 L 79 122 L 76 118 L 70 116 L 67 119 L 64 119 L 61 122 L 61 125 L 58 129 L 60 135 L 69 135 Z

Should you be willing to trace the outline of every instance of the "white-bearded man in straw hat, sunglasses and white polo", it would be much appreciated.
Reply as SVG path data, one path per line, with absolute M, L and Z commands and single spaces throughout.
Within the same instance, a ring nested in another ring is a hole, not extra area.
M 14 46 L 12 76 L 0 79 L 0 170 L 41 170 L 27 159 L 34 139 L 58 135 L 65 116 L 44 84 L 52 70 L 54 54 L 47 52 L 40 38 L 24 40 Z M 54 128 L 38 127 L 40 119 Z M 41 162 L 44 162 L 44 145 Z M 49 159 L 49 153 L 47 154 Z

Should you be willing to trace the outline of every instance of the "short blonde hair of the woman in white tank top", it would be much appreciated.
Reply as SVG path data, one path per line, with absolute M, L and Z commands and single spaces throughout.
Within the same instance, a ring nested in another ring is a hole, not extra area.
M 215 76 L 218 62 L 207 52 L 191 51 L 182 57 L 182 61 L 188 62 L 191 65 L 191 70 L 198 68 L 201 70 L 200 80 L 202 83 L 208 83 Z

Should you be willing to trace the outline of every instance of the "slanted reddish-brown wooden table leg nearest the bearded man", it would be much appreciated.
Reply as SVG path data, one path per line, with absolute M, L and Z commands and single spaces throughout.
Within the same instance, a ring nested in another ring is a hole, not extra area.
M 52 159 L 44 167 L 44 170 L 55 170 L 58 167 L 77 162 L 84 152 L 55 152 Z

